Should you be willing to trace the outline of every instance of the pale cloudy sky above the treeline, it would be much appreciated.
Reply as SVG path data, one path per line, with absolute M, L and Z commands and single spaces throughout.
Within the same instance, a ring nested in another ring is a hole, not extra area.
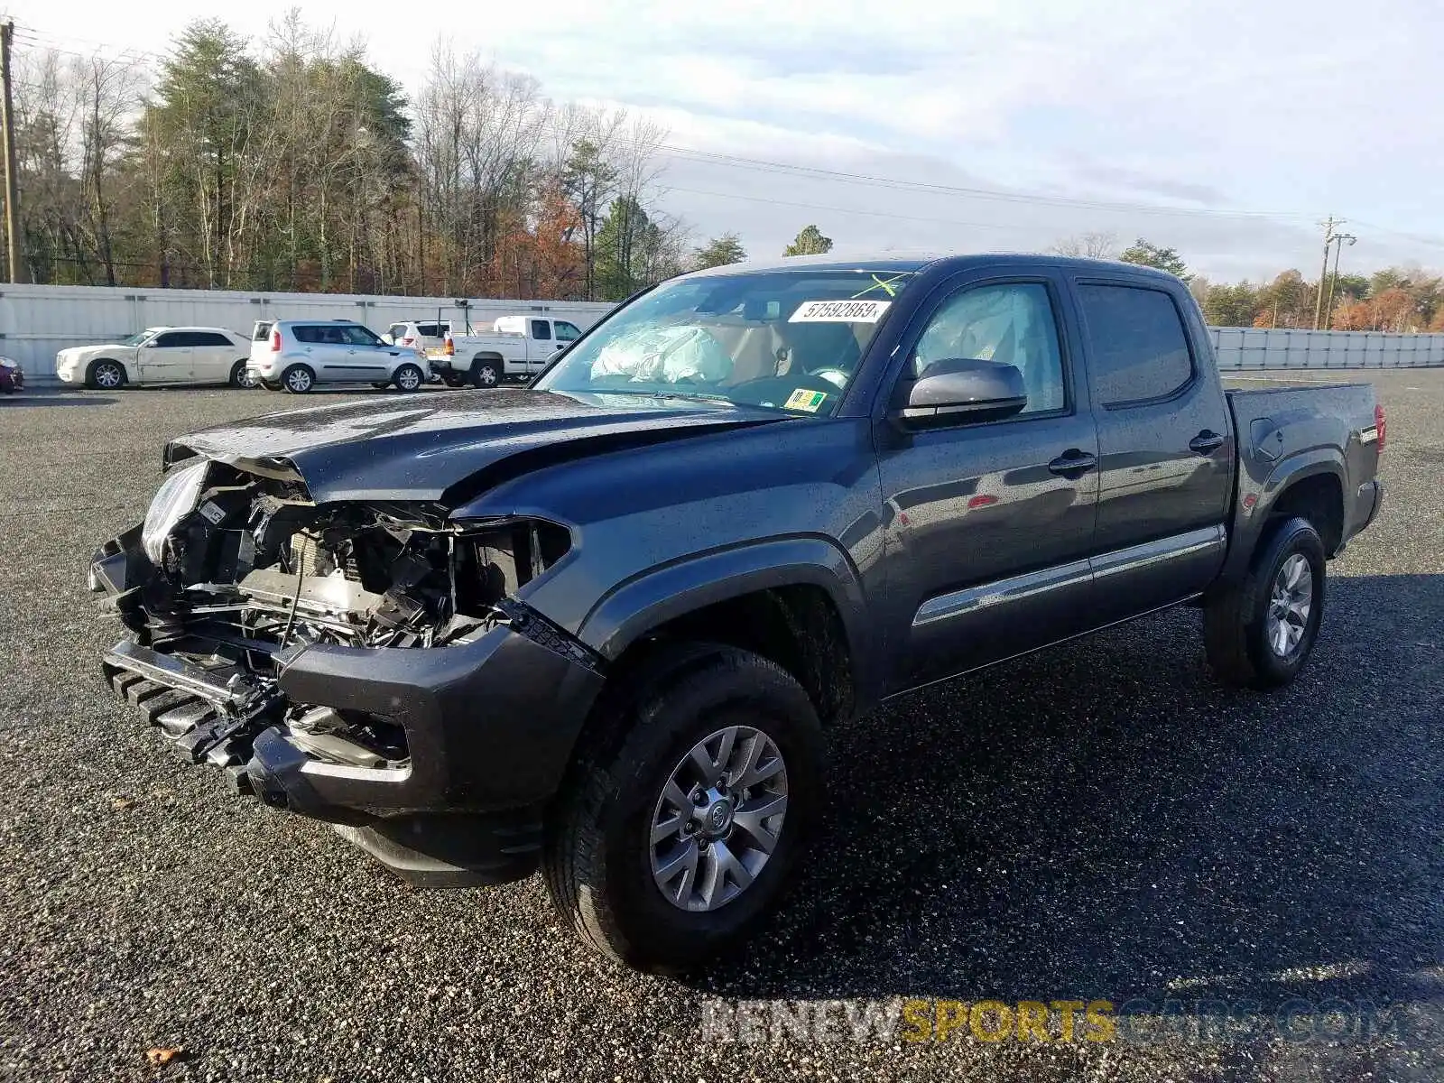
M 1095 231 L 1258 280 L 1315 276 L 1331 214 L 1344 273 L 1444 267 L 1438 0 L 0 0 L 17 48 L 105 55 L 201 17 L 260 48 L 292 6 L 407 90 L 442 39 L 660 121 L 660 205 L 752 256 L 809 222 L 838 251 Z

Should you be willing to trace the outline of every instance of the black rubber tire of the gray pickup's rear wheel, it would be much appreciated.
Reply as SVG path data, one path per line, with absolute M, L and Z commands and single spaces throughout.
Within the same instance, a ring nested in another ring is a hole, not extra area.
M 1308 565 L 1310 606 L 1298 641 L 1275 648 L 1269 612 L 1275 585 L 1291 557 Z M 1276 689 L 1298 676 L 1314 650 L 1324 617 L 1324 542 L 1307 518 L 1287 518 L 1266 527 L 1243 582 L 1210 598 L 1203 611 L 1209 667 L 1225 684 Z

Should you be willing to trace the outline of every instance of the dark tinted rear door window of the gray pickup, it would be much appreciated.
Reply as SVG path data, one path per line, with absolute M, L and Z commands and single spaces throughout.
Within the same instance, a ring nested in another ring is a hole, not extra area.
M 1093 397 L 1105 407 L 1168 399 L 1194 377 L 1183 313 L 1167 290 L 1077 284 Z

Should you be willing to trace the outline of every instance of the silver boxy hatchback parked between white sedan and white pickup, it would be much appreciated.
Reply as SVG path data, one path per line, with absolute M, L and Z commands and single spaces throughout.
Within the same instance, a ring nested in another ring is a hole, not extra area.
M 261 339 L 251 334 L 248 370 L 271 391 L 305 394 L 316 384 L 394 384 L 414 391 L 430 378 L 423 354 L 348 319 L 282 319 L 269 323 Z

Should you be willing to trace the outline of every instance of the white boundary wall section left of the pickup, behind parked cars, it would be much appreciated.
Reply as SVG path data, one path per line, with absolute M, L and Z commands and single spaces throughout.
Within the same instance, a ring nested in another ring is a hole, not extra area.
M 351 293 L 235 293 L 108 286 L 0 284 L 0 355 L 25 368 L 29 387 L 55 386 L 55 354 L 116 342 L 143 328 L 230 328 L 250 338 L 258 319 L 358 319 L 377 334 L 403 319 L 461 319 L 459 297 Z M 472 323 L 513 313 L 569 319 L 583 331 L 614 308 L 606 302 L 468 297 Z

